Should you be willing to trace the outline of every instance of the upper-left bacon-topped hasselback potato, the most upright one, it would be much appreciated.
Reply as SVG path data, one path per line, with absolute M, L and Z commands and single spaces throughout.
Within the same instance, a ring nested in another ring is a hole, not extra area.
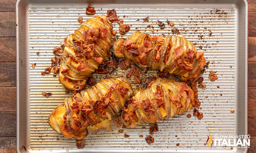
M 103 63 L 110 48 L 113 26 L 106 15 L 85 21 L 64 40 L 59 81 L 70 90 L 80 90 Z

